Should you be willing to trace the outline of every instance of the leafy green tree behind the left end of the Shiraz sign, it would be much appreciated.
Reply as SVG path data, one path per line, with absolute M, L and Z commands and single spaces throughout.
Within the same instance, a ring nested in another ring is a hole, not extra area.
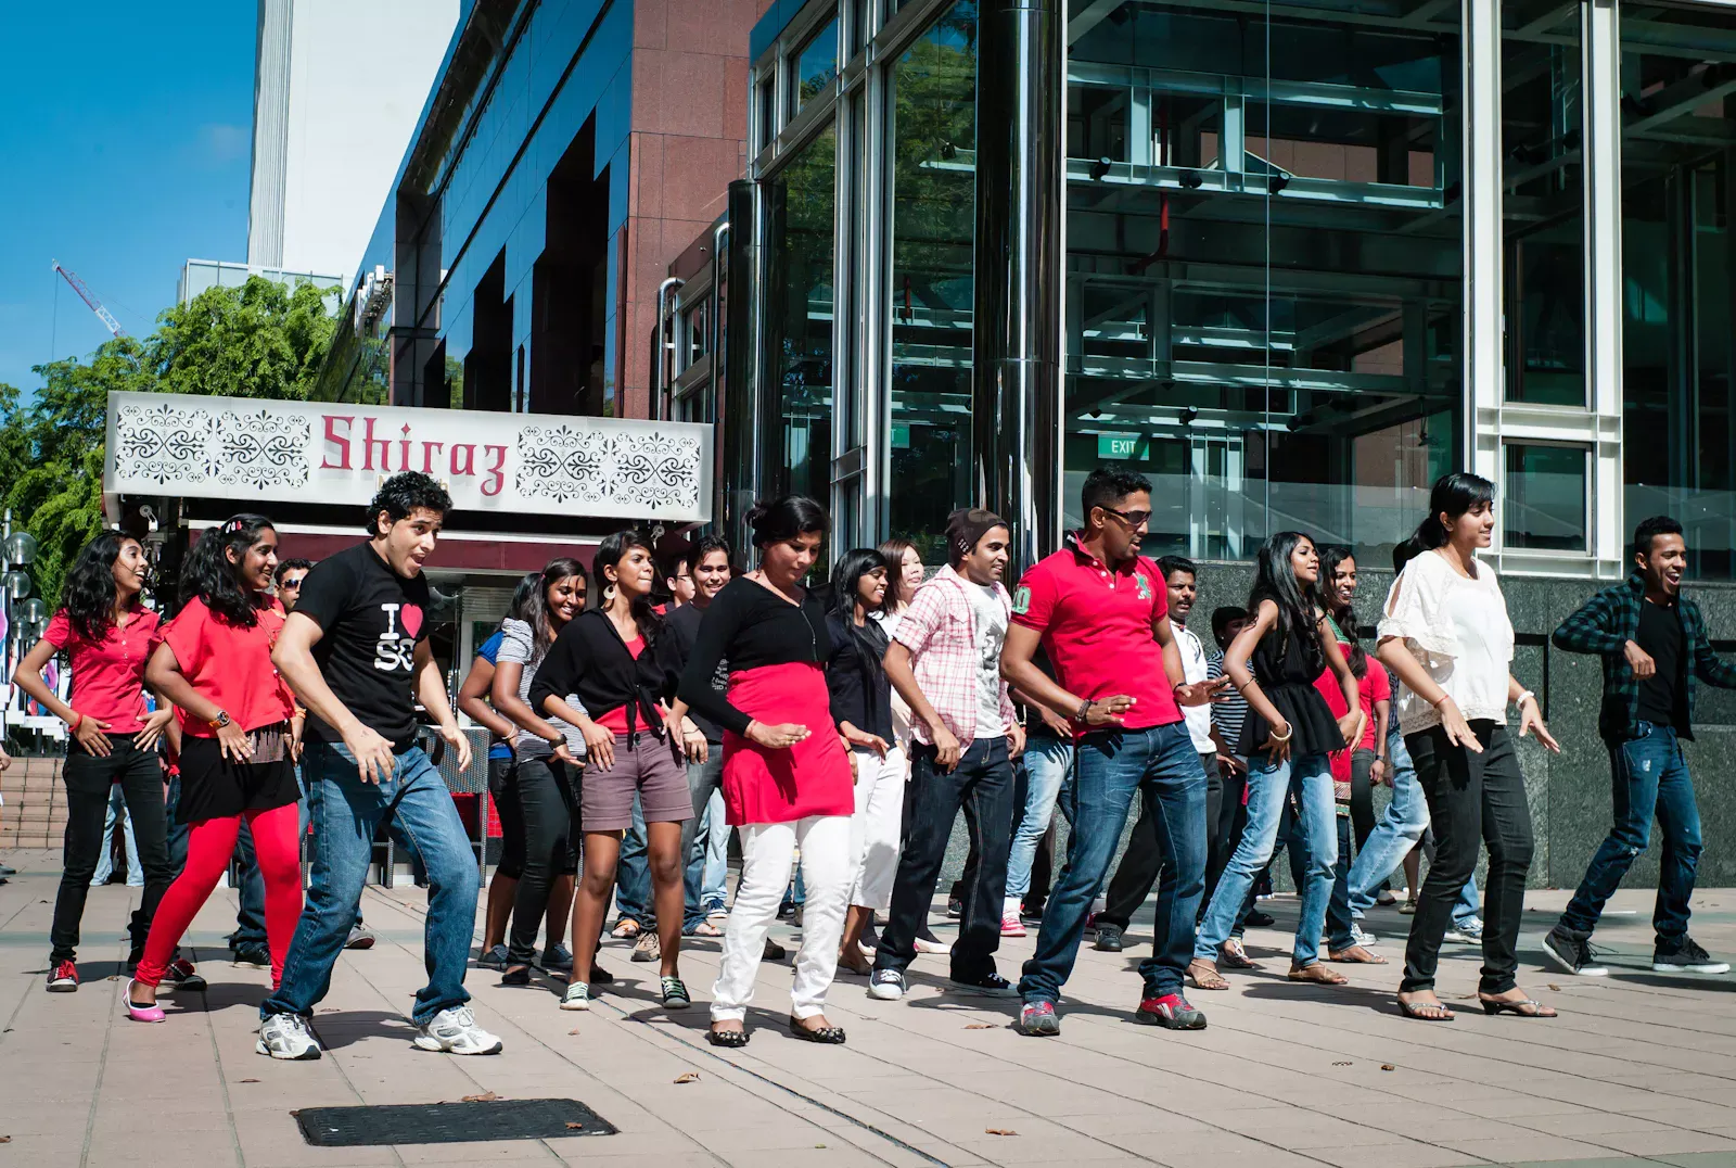
M 0 488 L 12 523 L 36 537 L 31 577 L 47 603 L 61 594 L 78 549 L 108 521 L 108 395 L 306 400 L 337 328 L 325 311 L 326 292 L 259 276 L 240 289 L 208 289 L 163 311 L 149 337 L 116 337 L 87 360 L 36 365 L 43 384 L 28 405 L 0 384 Z

